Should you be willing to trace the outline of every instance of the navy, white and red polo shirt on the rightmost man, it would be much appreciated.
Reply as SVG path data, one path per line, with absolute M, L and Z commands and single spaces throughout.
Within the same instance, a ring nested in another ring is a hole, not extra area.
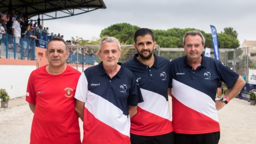
M 180 134 L 206 134 L 220 131 L 215 105 L 219 80 L 231 88 L 239 75 L 219 60 L 202 55 L 194 70 L 187 57 L 171 60 L 173 88 L 173 129 Z

